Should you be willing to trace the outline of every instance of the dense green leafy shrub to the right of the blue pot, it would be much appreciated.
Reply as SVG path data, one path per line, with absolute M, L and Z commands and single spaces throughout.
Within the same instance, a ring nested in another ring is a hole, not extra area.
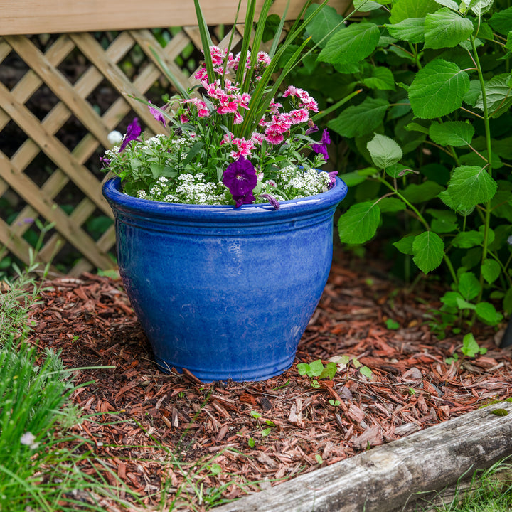
M 317 87 L 343 148 L 335 165 L 353 190 L 338 220 L 340 240 L 359 245 L 380 227 L 386 235 L 393 229 L 390 250 L 407 265 L 406 277 L 436 272 L 451 284 L 432 320 L 439 334 L 475 319 L 496 325 L 512 311 L 512 7 L 505 0 L 358 6 L 368 13 L 362 21 L 331 31 L 332 18 L 329 33 L 308 26 L 316 43 L 326 42 L 301 84 Z M 328 80 L 337 87 L 327 90 Z M 359 89 L 331 113 L 329 103 Z

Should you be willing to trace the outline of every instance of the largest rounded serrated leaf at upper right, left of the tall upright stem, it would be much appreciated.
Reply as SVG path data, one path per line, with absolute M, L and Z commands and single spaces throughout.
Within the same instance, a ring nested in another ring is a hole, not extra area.
M 416 117 L 434 119 L 462 106 L 469 89 L 469 76 L 457 64 L 436 59 L 418 71 L 409 87 L 409 100 Z

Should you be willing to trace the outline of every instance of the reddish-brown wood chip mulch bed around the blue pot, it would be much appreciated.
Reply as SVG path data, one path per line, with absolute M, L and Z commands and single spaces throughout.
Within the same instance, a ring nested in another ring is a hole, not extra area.
M 188 471 L 203 491 L 182 494 L 175 510 L 203 510 L 217 491 L 238 498 L 511 396 L 512 352 L 496 346 L 499 332 L 475 326 L 488 352 L 461 358 L 459 351 L 447 364 L 462 335 L 439 341 L 425 325 L 440 289 L 407 294 L 378 260 L 342 262 L 340 254 L 294 366 L 261 383 L 162 373 L 119 280 L 84 274 L 46 282 L 31 341 L 62 351 L 68 367 L 114 366 L 75 372 L 76 384 L 93 383 L 73 402 L 83 415 L 105 413 L 75 427 L 87 439 L 76 449 L 97 457 L 82 469 L 124 482 L 149 507 L 161 489 L 168 502 L 179 489 L 191 491 Z M 387 329 L 388 318 L 400 327 Z M 373 376 L 349 365 L 312 388 L 297 372 L 297 363 L 343 355 Z

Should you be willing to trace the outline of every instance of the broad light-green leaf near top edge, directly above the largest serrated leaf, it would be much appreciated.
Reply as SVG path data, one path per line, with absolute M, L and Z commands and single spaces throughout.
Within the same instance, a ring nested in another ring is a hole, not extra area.
M 453 48 L 466 41 L 473 23 L 447 7 L 425 17 L 425 48 Z

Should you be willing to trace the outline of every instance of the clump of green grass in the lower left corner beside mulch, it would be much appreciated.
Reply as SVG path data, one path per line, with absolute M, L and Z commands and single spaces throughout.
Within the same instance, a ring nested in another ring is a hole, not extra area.
M 40 265 L 33 255 L 31 260 L 25 270 L 13 265 L 14 279 L 0 287 L 0 510 L 105 511 L 107 503 L 135 510 L 138 496 L 102 461 L 83 452 L 84 439 L 69 433 L 80 422 L 69 400 L 78 388 L 74 369 L 64 368 L 60 353 L 46 348 L 38 354 L 27 341 L 30 310 L 41 289 L 41 280 L 33 277 Z M 70 440 L 73 450 L 64 448 Z M 95 474 L 81 471 L 86 459 Z M 115 485 L 105 481 L 105 471 Z M 121 492 L 132 503 L 121 500 Z

